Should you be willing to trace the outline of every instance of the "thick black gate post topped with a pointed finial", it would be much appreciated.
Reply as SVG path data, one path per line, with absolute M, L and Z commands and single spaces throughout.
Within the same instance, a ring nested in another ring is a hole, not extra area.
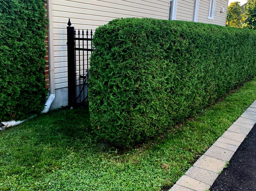
M 70 19 L 68 19 L 67 27 L 67 47 L 68 47 L 68 106 L 72 107 L 75 102 L 76 92 L 76 69 L 74 54 L 74 27 L 71 27 Z

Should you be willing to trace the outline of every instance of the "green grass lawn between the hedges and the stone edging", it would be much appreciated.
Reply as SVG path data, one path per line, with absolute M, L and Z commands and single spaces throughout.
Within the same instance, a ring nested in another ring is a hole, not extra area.
M 136 148 L 99 139 L 85 110 L 52 111 L 0 132 L 1 190 L 165 190 L 256 99 L 256 78 Z

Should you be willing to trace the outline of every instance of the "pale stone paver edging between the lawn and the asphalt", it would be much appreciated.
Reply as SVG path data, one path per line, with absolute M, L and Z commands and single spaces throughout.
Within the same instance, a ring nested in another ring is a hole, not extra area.
M 205 191 L 256 123 L 256 100 L 222 136 L 178 179 L 169 191 Z

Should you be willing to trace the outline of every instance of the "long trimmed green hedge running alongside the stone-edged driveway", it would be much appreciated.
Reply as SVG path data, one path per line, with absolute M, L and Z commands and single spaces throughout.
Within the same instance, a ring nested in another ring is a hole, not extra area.
M 134 145 L 194 116 L 256 72 L 256 31 L 186 21 L 115 19 L 94 34 L 91 123 Z

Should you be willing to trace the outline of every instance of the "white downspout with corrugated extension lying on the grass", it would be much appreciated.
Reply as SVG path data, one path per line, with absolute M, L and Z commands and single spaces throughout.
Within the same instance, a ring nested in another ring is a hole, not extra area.
M 53 29 L 52 29 L 52 0 L 47 1 L 47 17 L 49 19 L 48 25 L 48 59 L 49 59 L 49 83 L 50 83 L 50 96 L 48 97 L 44 109 L 41 111 L 41 114 L 47 113 L 51 107 L 51 104 L 55 98 L 55 83 L 54 83 L 54 62 L 53 62 Z M 3 121 L 0 123 L 0 130 L 5 130 L 9 127 L 13 127 L 23 123 L 29 119 L 36 117 L 33 115 L 28 119 L 21 121 Z

